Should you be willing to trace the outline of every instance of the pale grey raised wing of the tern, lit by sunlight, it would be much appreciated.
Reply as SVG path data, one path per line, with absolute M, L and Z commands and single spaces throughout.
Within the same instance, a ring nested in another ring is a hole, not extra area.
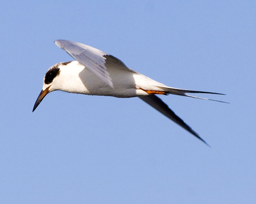
M 69 40 L 55 40 L 54 42 L 112 88 L 113 83 L 107 68 L 132 71 L 120 59 L 94 47 Z

